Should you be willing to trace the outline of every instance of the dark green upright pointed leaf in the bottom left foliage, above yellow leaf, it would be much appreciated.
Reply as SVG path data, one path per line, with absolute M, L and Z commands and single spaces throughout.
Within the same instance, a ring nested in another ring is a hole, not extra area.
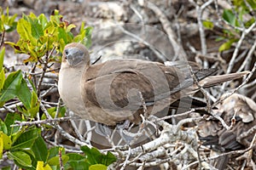
M 35 155 L 37 161 L 46 161 L 48 150 L 44 139 L 41 136 L 38 136 L 38 139 L 35 140 L 34 144 L 32 145 L 32 151 Z

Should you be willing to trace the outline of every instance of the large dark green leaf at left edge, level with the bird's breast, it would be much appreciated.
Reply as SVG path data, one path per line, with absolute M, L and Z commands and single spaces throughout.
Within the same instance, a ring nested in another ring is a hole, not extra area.
M 3 84 L 3 89 L 0 94 L 0 106 L 1 104 L 3 105 L 5 101 L 15 98 L 15 96 L 20 92 L 21 80 L 21 71 L 15 71 L 9 74 Z

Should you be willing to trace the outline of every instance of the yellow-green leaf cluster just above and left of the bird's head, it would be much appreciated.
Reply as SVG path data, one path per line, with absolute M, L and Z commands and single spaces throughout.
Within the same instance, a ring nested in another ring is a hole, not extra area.
M 20 40 L 16 43 L 6 43 L 15 48 L 15 53 L 29 55 L 24 62 L 38 62 L 52 49 L 56 49 L 57 52 L 63 51 L 65 45 L 70 42 L 82 42 L 87 48 L 90 47 L 92 27 L 84 28 L 84 23 L 82 23 L 79 35 L 76 37 L 71 31 L 74 27 L 76 26 L 63 20 L 58 10 L 50 15 L 49 20 L 44 14 L 38 17 L 32 13 L 23 14 L 17 22 Z M 49 56 L 49 62 L 54 61 L 60 62 L 60 57 Z

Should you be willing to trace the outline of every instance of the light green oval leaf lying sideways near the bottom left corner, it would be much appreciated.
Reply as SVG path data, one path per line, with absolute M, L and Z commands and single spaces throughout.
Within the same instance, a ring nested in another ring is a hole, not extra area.
M 29 155 L 23 151 L 9 152 L 9 159 L 15 160 L 15 162 L 24 167 L 32 167 L 32 161 Z

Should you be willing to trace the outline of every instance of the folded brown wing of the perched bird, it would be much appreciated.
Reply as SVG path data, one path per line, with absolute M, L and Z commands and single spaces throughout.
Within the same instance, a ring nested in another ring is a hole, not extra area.
M 186 88 L 182 82 L 188 75 L 177 67 L 157 62 L 116 59 L 90 66 L 84 77 L 86 99 L 116 111 L 116 107 L 137 110 L 142 105 L 139 92 L 146 105 L 154 105 L 155 101 Z M 191 85 L 192 78 L 190 81 Z

